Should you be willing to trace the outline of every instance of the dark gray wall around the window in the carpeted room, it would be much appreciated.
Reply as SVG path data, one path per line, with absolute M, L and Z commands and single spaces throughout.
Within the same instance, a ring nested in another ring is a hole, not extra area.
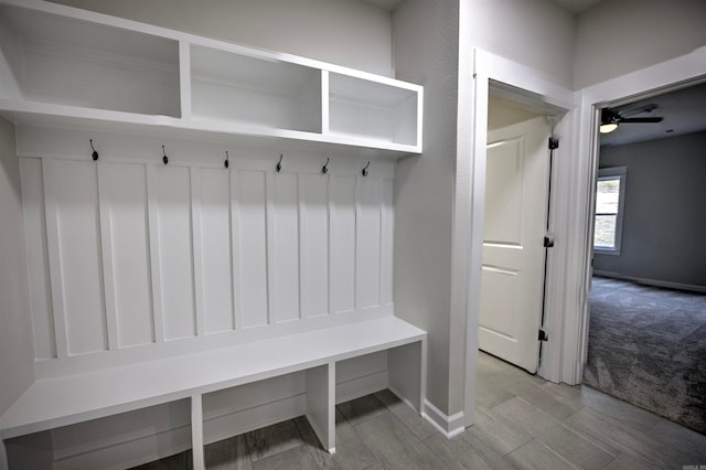
M 621 254 L 593 269 L 706 287 L 706 132 L 601 147 L 600 167 L 628 167 Z

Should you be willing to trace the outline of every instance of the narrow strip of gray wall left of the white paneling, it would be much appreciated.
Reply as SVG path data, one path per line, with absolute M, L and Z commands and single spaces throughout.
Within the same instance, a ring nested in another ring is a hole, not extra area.
M 34 381 L 21 193 L 14 126 L 0 118 L 0 414 Z

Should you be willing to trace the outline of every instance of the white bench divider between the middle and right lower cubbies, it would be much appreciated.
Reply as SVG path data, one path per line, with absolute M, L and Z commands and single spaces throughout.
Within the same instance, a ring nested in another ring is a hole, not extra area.
M 335 452 L 335 364 L 307 370 L 307 419 L 319 441 Z

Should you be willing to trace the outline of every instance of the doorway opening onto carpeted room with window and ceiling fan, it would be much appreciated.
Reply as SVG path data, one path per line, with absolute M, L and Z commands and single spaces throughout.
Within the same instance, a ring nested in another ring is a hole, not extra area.
M 706 434 L 706 84 L 603 109 L 584 383 Z

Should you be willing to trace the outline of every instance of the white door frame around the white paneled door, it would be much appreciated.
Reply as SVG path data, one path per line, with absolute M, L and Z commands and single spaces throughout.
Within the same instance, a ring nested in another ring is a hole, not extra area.
M 542 106 L 549 114 L 563 116 L 554 122 L 553 136 L 560 139 L 554 151 L 550 175 L 552 196 L 549 231 L 555 235 L 556 247 L 547 254 L 548 286 L 545 300 L 545 331 L 549 341 L 543 345 L 543 361 L 538 374 L 557 382 L 560 373 L 561 332 L 564 321 L 564 291 L 566 270 L 566 244 L 561 243 L 567 231 L 568 211 L 564 195 L 570 190 L 567 172 L 575 147 L 575 117 L 577 95 L 544 78 L 538 71 L 512 62 L 490 52 L 475 49 L 473 54 L 472 149 L 469 162 L 470 191 L 468 223 L 472 227 L 468 249 L 468 287 L 466 322 L 466 391 L 464 416 L 467 426 L 473 423 L 475 406 L 475 364 L 478 357 L 478 319 L 480 312 L 481 266 L 483 254 L 483 218 L 485 205 L 485 165 L 488 145 L 488 106 L 491 83 L 496 84 L 518 102 Z M 548 145 L 548 142 L 547 142 Z M 548 151 L 548 148 L 547 148 Z M 458 175 L 457 175 L 458 178 Z M 553 341 L 554 339 L 554 341 Z

